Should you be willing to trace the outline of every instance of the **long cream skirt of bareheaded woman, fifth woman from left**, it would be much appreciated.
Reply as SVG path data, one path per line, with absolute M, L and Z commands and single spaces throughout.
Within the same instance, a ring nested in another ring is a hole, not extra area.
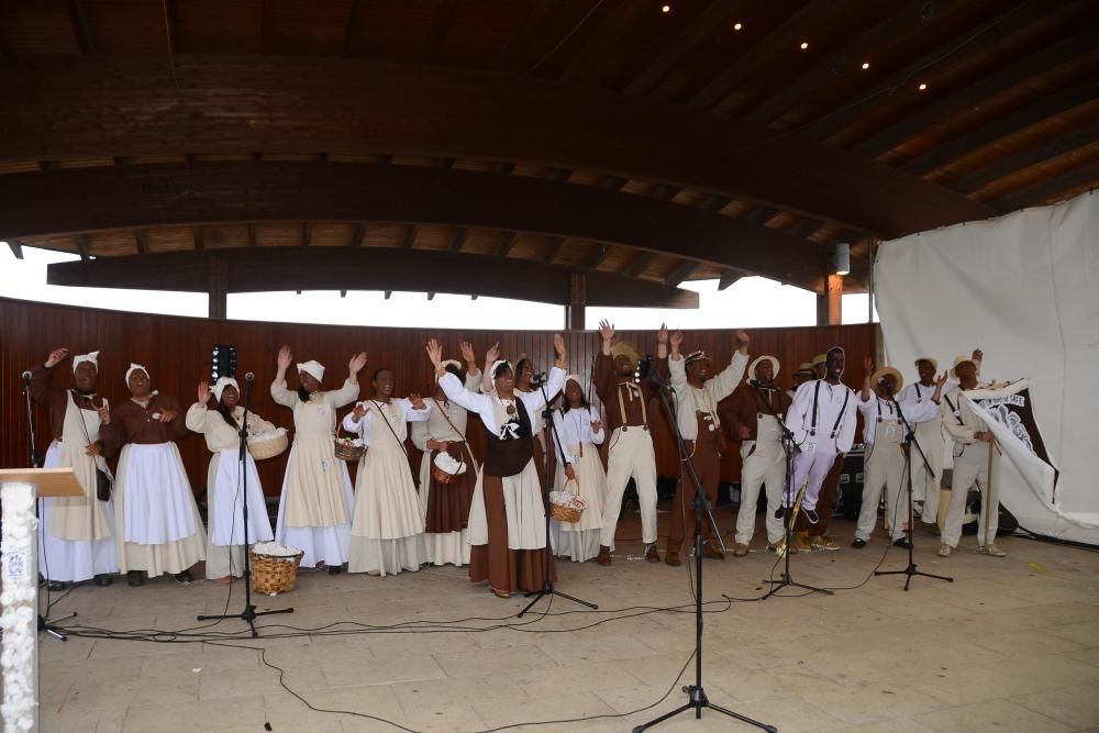
M 349 573 L 397 575 L 428 562 L 423 519 L 408 457 L 401 449 L 371 446 L 355 481 Z

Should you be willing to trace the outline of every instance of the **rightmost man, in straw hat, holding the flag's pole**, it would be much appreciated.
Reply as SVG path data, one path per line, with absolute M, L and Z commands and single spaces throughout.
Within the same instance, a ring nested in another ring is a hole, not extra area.
M 954 357 L 951 375 L 961 382 L 950 390 L 940 406 L 943 412 L 943 427 L 954 438 L 954 480 L 951 486 L 951 504 L 946 510 L 942 544 L 939 554 L 947 557 L 957 547 L 962 537 L 962 519 L 965 514 L 966 497 L 976 484 L 980 491 L 980 517 L 977 524 L 977 552 L 992 557 L 1004 557 L 996 546 L 996 530 L 999 523 L 1000 502 L 995 487 L 989 480 L 992 466 L 992 433 L 985 421 L 969 407 L 965 392 L 984 387 L 978 381 L 980 375 L 980 349 L 973 356 Z

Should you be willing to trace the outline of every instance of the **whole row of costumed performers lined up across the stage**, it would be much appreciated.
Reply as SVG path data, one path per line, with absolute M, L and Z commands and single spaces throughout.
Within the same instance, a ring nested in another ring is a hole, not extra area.
M 116 573 L 126 574 L 132 586 L 165 574 L 189 582 L 191 568 L 206 560 L 209 579 L 229 581 L 243 574 L 247 537 L 297 548 L 303 553 L 303 568 L 323 566 L 332 574 L 345 565 L 349 573 L 375 576 L 428 564 L 467 565 L 471 580 L 487 581 L 497 596 L 507 598 L 515 591 L 537 591 L 553 580 L 554 556 L 612 564 L 631 479 L 641 510 L 644 557 L 658 563 L 653 445 L 657 382 L 670 386 L 675 421 L 714 506 L 726 438 L 741 444 L 734 556 L 750 551 L 764 487 L 773 508 L 765 517 L 768 549 L 788 549 L 784 521 L 795 517 L 789 549 L 839 549 L 828 535 L 828 519 L 839 468 L 854 442 L 856 410 L 863 417 L 866 467 L 852 547 L 869 541 L 882 491 L 890 538 L 902 546 L 910 542 L 901 414 L 915 426 L 931 460 L 933 474 L 911 456 L 913 498 L 924 522 L 937 522 L 939 480 L 932 475 L 941 473 L 944 429 L 956 446 L 954 491 L 940 555 L 957 546 L 969 487 L 976 484 L 987 496 L 991 435 L 962 398 L 964 390 L 979 386 L 979 351 L 955 359 L 951 376 L 959 384 L 945 395 L 947 375 L 935 378 L 937 364 L 931 357 L 917 360 L 919 380 L 904 389 L 900 371 L 874 369 L 867 358 L 862 388 L 852 390 L 841 381 L 841 347 L 802 364 L 796 390 L 787 391 L 775 382 L 780 370 L 776 357 L 763 355 L 748 364 L 750 338 L 743 331 L 735 334 L 731 360 L 718 370 L 703 352 L 685 352 L 682 334 L 662 326 L 650 377 L 637 371 L 639 353 L 617 343 L 614 335 L 613 325 L 600 323 L 601 348 L 591 384 L 602 415 L 588 401 L 586 380 L 566 371 L 560 335 L 554 336 L 556 362 L 541 386 L 534 384 L 529 359 L 512 365 L 501 357 L 498 344 L 487 351 L 480 367 L 469 343 L 462 344 L 459 362 L 444 359 L 442 346 L 432 340 L 426 353 L 436 380 L 426 398 L 397 397 L 393 373 L 380 368 L 370 377 L 370 397 L 358 400 L 365 353 L 349 359 L 347 377 L 337 389 L 323 389 L 325 367 L 314 360 L 295 365 L 292 387 L 287 373 L 293 355 L 284 346 L 270 395 L 293 411 L 293 442 L 274 530 L 255 462 L 247 452 L 242 460 L 240 453 L 245 410 L 236 379 L 199 384 L 196 402 L 185 411 L 153 389 L 146 367 L 131 364 L 125 373 L 131 397 L 110 406 L 96 393 L 98 352 L 73 358 L 68 387 L 51 384 L 52 373 L 69 355 L 58 348 L 32 370 L 31 395 L 46 408 L 54 438 L 45 467 L 73 467 L 85 493 L 42 501 L 43 575 L 54 588 L 92 578 L 110 585 Z M 558 396 L 560 407 L 552 412 L 551 429 L 543 424 L 546 399 Z M 337 411 L 352 403 L 338 424 L 365 446 L 354 485 L 333 442 Z M 469 448 L 470 412 L 485 431 L 481 460 Z M 275 426 L 248 412 L 247 430 L 263 434 Z M 189 432 L 201 433 L 212 454 L 207 526 L 176 447 Z M 409 468 L 409 437 L 423 452 L 419 480 Z M 606 470 L 599 453 L 604 443 Z M 547 452 L 556 457 L 548 471 Z M 106 458 L 115 455 L 116 475 L 111 476 Z M 547 533 L 544 507 L 551 488 L 576 495 L 585 509 L 576 522 L 551 521 Z M 686 509 L 695 490 L 690 479 L 677 485 L 663 558 L 668 565 L 680 564 L 693 517 Z M 242 502 L 248 508 L 246 532 Z M 983 512 L 980 536 L 995 537 L 996 515 L 995 507 Z M 704 556 L 724 559 L 709 522 L 702 533 Z M 978 551 L 1003 555 L 993 542 L 979 543 Z

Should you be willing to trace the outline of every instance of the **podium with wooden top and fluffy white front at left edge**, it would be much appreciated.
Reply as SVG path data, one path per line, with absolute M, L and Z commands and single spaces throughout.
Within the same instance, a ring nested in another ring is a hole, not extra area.
M 71 468 L 0 468 L 3 730 L 38 730 L 38 497 L 79 497 Z M 95 501 L 95 497 L 91 499 Z

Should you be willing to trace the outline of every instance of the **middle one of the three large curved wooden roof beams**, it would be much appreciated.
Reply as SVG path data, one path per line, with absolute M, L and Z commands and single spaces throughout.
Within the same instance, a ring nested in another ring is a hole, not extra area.
M 97 206 L 85 204 L 95 192 Z M 320 162 L 196 163 L 0 176 L 0 238 L 119 227 L 364 221 L 492 229 L 622 245 L 823 290 L 817 245 L 655 199 L 528 177 Z M 674 233 L 674 235 L 669 235 Z M 410 242 L 410 234 L 404 243 Z

